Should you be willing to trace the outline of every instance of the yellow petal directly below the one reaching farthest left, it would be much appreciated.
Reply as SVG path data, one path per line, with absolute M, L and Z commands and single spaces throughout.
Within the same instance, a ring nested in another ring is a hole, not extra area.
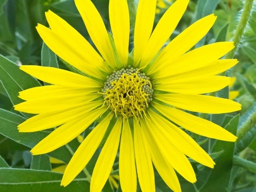
M 80 115 L 85 115 L 87 112 L 96 108 L 97 105 L 88 104 L 82 107 L 64 110 L 62 112 L 42 113 L 29 118 L 22 124 L 18 125 L 19 132 L 35 132 L 49 128 L 53 128 L 66 122 L 75 120 Z

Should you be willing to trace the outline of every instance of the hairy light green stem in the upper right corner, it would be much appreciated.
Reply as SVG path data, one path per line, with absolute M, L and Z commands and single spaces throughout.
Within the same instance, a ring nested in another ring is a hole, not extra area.
M 254 0 L 245 0 L 244 2 L 244 10 L 242 12 L 242 15 L 240 17 L 240 20 L 238 22 L 238 25 L 236 27 L 236 31 L 235 31 L 235 34 L 234 34 L 234 37 L 233 37 L 233 42 L 234 42 L 234 46 L 235 48 L 233 50 L 231 50 L 226 58 L 229 58 L 229 59 L 232 59 L 234 58 L 234 55 L 236 53 L 236 50 L 238 48 L 238 45 L 240 43 L 240 40 L 242 38 L 242 35 L 244 33 L 244 29 L 246 27 L 246 24 L 248 22 L 248 19 L 250 17 L 250 12 L 252 10 L 252 5 L 253 5 L 253 1 Z

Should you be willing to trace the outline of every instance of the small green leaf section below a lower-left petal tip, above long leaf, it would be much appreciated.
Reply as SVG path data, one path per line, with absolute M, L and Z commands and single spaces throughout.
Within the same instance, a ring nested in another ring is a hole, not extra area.
M 48 170 L 48 171 L 52 170 L 49 156 L 47 156 L 47 155 L 32 156 L 32 162 L 30 165 L 30 169 Z

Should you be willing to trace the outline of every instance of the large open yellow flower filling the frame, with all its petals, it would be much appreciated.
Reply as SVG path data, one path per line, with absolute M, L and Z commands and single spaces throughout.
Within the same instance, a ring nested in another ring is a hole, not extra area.
M 188 52 L 214 24 L 216 16 L 211 14 L 161 49 L 185 12 L 188 0 L 172 4 L 153 32 L 156 0 L 140 0 L 134 50 L 128 54 L 130 20 L 126 0 L 110 0 L 114 41 L 90 0 L 75 3 L 101 56 L 67 22 L 48 11 L 50 28 L 38 24 L 38 33 L 50 49 L 83 75 L 51 67 L 21 66 L 21 70 L 52 85 L 20 92 L 19 97 L 26 101 L 15 109 L 38 115 L 20 124 L 18 130 L 35 132 L 59 126 L 31 150 L 38 155 L 65 145 L 92 122 L 100 121 L 76 150 L 61 185 L 67 186 L 80 173 L 107 133 L 92 173 L 91 192 L 100 192 L 106 183 L 119 142 L 122 191 L 135 192 L 138 175 L 142 192 L 154 192 L 154 164 L 164 182 L 180 192 L 174 170 L 189 182 L 196 182 L 186 156 L 210 168 L 214 161 L 176 124 L 202 136 L 236 140 L 220 126 L 183 111 L 220 114 L 241 109 L 232 100 L 206 95 L 230 83 L 229 77 L 217 74 L 237 63 L 219 59 L 234 48 L 233 42 L 218 42 Z

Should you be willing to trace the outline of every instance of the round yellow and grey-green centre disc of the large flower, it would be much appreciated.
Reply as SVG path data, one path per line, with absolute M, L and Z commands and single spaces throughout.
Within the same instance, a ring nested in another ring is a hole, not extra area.
M 104 104 L 124 118 L 142 116 L 152 101 L 153 89 L 149 78 L 138 68 L 114 71 L 102 88 Z

